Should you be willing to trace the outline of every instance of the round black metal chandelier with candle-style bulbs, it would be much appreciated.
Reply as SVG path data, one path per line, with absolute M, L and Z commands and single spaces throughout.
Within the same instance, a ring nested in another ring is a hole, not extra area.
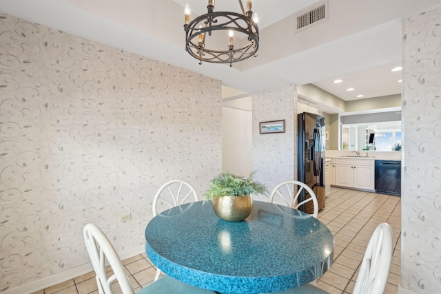
M 257 13 L 247 0 L 247 11 L 238 0 L 242 14 L 214 12 L 214 0 L 208 0 L 207 13 L 189 21 L 189 7 L 185 5 L 185 50 L 198 59 L 210 63 L 232 63 L 256 57 L 259 48 Z M 242 38 L 243 37 L 243 38 Z M 226 45 L 228 44 L 228 45 Z

